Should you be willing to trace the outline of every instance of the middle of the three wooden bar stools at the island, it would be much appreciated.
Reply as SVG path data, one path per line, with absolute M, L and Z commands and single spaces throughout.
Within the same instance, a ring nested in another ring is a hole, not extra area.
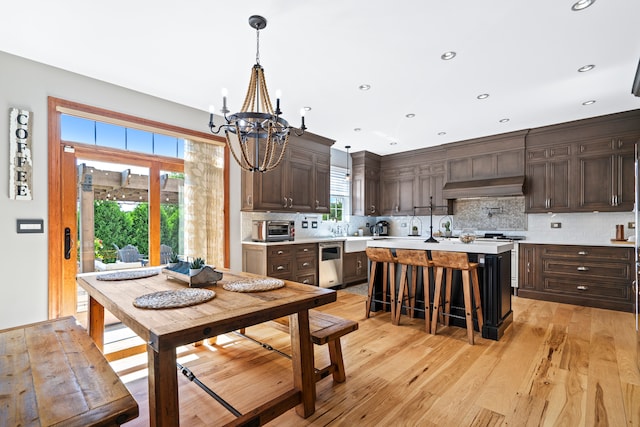
M 413 318 L 416 304 L 418 267 L 422 267 L 422 283 L 424 289 L 424 321 L 425 328 L 427 332 L 429 332 L 431 329 L 431 280 L 429 278 L 429 268 L 433 267 L 433 263 L 427 257 L 427 251 L 415 249 L 396 249 L 396 259 L 398 260 L 398 264 L 400 264 L 401 267 L 398 300 L 396 304 L 396 318 L 393 323 L 395 325 L 398 325 L 400 323 L 400 315 L 402 313 L 402 308 L 404 307 L 405 299 L 409 303 L 407 309 L 409 317 Z M 411 289 L 409 289 L 408 285 L 409 267 L 411 268 Z

